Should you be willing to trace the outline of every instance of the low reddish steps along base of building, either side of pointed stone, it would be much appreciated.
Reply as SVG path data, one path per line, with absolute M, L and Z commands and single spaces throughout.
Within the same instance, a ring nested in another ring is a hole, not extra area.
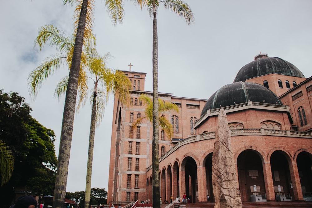
M 181 208 L 214 208 L 213 202 L 181 203 Z M 168 204 L 161 204 L 160 208 L 165 208 Z M 266 201 L 266 202 L 242 202 L 243 208 L 312 208 L 311 201 Z M 170 206 L 174 208 L 174 206 Z

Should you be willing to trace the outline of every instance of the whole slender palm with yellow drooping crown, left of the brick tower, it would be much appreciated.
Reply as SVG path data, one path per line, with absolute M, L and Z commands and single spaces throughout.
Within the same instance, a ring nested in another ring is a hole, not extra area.
M 109 54 L 100 56 L 94 47 L 89 47 L 87 50 L 87 67 L 89 72 L 94 76 L 94 79 L 89 77 L 94 82 L 93 95 L 92 95 L 92 111 L 91 111 L 91 124 L 89 135 L 89 151 L 87 163 L 87 177 L 85 183 L 85 208 L 90 207 L 90 194 L 91 194 L 91 175 L 92 175 L 92 161 L 93 161 L 93 147 L 95 126 L 99 125 L 103 115 L 105 103 L 111 94 L 119 96 L 123 103 L 127 103 L 129 99 L 129 90 L 131 87 L 130 80 L 121 71 L 110 70 L 106 68 L 105 62 Z M 103 90 L 98 88 L 102 85 Z

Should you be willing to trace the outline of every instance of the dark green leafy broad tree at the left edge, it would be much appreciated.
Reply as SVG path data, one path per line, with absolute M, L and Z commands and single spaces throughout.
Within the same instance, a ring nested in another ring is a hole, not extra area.
M 18 187 L 26 187 L 33 195 L 53 194 L 57 163 L 55 134 L 33 119 L 31 110 L 18 93 L 0 90 L 0 140 L 10 147 L 15 158 L 10 181 L 0 187 L 0 207 L 10 205 Z

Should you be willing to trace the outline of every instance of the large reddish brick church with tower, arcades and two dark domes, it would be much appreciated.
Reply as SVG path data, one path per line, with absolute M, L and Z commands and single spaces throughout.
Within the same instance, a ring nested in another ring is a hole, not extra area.
M 132 83 L 131 103 L 115 97 L 108 201 L 152 200 L 152 123 L 144 119 L 136 132 L 130 128 L 144 115 L 139 96 L 152 92 L 144 91 L 146 73 L 123 72 Z M 163 201 L 184 193 L 191 202 L 207 201 L 207 194 L 214 201 L 212 152 L 221 108 L 231 130 L 242 201 L 253 195 L 267 201 L 311 197 L 312 77 L 291 63 L 258 54 L 208 100 L 170 93 L 159 98 L 179 108 L 161 115 L 173 125 L 172 138 L 159 129 Z

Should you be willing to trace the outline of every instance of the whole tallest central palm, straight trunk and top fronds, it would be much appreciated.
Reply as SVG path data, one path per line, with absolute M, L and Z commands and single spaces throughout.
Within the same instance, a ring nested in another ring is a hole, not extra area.
M 160 208 L 160 176 L 159 176 L 159 147 L 158 147 L 158 33 L 157 11 L 159 3 L 182 17 L 189 25 L 193 22 L 193 12 L 187 3 L 182 0 L 147 0 L 149 14 L 153 17 L 153 141 L 152 141 L 152 167 L 153 167 L 153 207 Z

